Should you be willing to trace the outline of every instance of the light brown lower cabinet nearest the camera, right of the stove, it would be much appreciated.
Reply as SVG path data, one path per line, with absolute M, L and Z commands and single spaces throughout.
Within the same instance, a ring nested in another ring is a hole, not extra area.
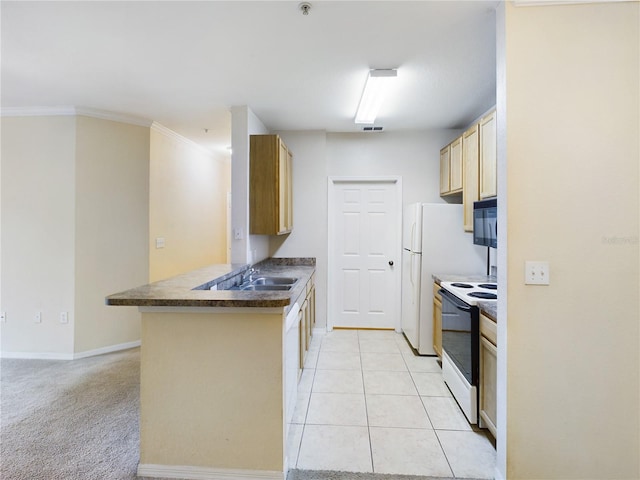
M 480 315 L 480 427 L 496 436 L 498 391 L 497 325 Z

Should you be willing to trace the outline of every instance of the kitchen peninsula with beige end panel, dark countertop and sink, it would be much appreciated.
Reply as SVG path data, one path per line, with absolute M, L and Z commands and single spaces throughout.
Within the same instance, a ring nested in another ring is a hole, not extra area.
M 250 266 L 212 265 L 107 297 L 142 313 L 138 475 L 286 477 L 289 393 L 305 343 L 298 309 L 313 291 L 315 259 L 253 267 L 297 281 L 290 290 L 229 290 Z

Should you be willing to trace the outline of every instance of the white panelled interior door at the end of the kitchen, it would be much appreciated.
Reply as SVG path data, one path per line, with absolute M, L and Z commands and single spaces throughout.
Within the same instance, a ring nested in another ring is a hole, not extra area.
M 399 331 L 399 179 L 330 179 L 329 195 L 329 329 Z

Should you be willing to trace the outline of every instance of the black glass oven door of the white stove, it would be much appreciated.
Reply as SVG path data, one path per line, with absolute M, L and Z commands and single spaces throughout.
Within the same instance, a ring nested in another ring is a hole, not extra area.
M 475 385 L 472 307 L 449 292 L 442 293 L 442 349 L 470 385 Z

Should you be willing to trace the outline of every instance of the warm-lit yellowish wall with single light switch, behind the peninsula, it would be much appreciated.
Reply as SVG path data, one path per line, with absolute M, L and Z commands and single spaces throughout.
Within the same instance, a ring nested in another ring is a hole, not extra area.
M 227 263 L 228 158 L 151 129 L 149 279 Z M 156 248 L 156 238 L 165 240 Z

